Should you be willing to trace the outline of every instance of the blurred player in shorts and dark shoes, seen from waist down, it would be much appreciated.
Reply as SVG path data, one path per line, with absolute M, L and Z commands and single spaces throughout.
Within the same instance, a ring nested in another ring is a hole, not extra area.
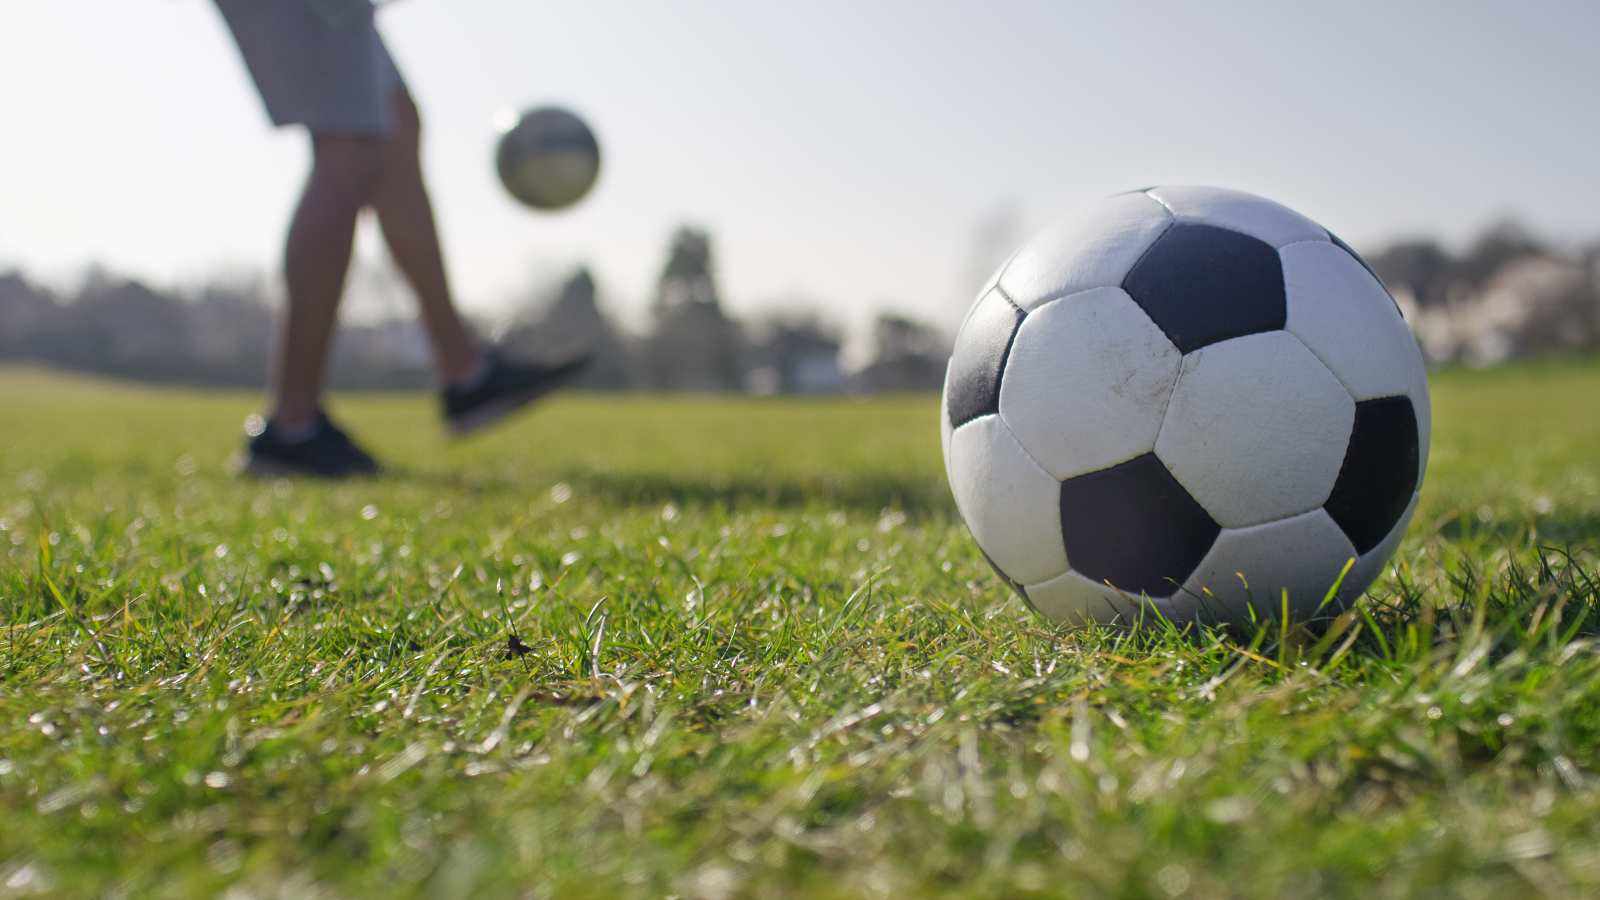
M 256 476 L 344 477 L 379 464 L 322 408 L 355 221 L 373 210 L 421 303 L 450 431 L 466 434 L 568 384 L 582 356 L 512 364 L 485 349 L 456 311 L 419 160 L 421 119 L 373 26 L 370 0 L 216 0 L 274 125 L 310 131 L 312 170 L 283 250 L 288 312 L 272 413 L 246 426 Z

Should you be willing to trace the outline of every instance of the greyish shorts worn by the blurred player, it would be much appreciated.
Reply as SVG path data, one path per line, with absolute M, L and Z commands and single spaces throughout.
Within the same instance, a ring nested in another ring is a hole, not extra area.
M 405 88 L 370 0 L 216 0 L 274 125 L 387 135 Z

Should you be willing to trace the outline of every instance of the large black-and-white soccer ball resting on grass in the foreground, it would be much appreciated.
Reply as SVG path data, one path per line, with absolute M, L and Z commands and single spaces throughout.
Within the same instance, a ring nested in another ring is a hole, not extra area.
M 941 412 L 973 538 L 1056 621 L 1277 617 L 1285 591 L 1293 618 L 1338 612 L 1427 466 L 1427 375 L 1382 282 L 1219 187 L 1120 194 L 1029 240 L 966 314 Z

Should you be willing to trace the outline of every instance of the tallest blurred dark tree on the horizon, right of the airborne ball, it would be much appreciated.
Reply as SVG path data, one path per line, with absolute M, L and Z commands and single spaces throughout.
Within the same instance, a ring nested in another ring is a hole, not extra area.
M 654 331 L 645 343 L 645 384 L 666 391 L 741 388 L 739 327 L 722 311 L 712 275 L 710 237 L 680 227 L 672 235 L 651 307 Z

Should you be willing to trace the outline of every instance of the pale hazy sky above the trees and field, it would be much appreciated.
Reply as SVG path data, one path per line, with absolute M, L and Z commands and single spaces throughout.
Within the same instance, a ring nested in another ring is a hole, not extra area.
M 814 307 L 859 351 L 877 311 L 952 327 L 1032 232 L 1174 183 L 1368 250 L 1507 216 L 1600 235 L 1594 3 L 398 0 L 379 30 L 485 317 L 587 264 L 637 323 L 688 223 L 736 314 Z M 307 139 L 270 127 L 210 0 L 0 0 L 0 271 L 275 271 Z M 496 112 L 539 104 L 602 144 L 570 211 L 494 175 Z

